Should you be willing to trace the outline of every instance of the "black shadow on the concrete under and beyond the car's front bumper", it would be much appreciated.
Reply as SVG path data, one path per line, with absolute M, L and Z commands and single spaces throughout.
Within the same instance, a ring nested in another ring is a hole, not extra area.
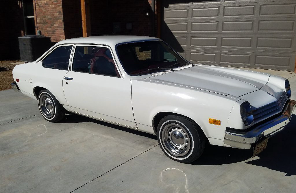
M 221 165 L 237 162 L 266 167 L 286 173 L 285 176 L 296 175 L 296 115 L 293 115 L 286 128 L 268 140 L 267 148 L 252 158 L 252 150 L 235 149 L 208 145 L 200 159 L 194 165 Z M 251 158 L 251 159 L 250 159 Z M 250 159 L 250 160 L 249 160 Z

